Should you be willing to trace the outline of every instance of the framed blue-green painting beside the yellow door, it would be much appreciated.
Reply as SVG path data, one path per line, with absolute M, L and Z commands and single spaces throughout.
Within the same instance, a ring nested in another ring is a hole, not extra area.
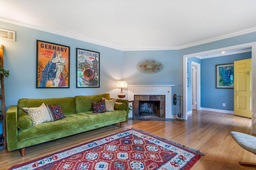
M 216 88 L 234 88 L 234 63 L 216 65 Z

